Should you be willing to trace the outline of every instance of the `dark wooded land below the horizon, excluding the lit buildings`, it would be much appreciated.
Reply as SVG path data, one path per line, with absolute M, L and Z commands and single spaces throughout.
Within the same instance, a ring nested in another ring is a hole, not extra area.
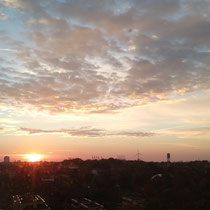
M 117 159 L 0 165 L 0 209 L 12 195 L 41 195 L 52 210 L 88 198 L 107 210 L 210 209 L 208 161 L 156 163 Z

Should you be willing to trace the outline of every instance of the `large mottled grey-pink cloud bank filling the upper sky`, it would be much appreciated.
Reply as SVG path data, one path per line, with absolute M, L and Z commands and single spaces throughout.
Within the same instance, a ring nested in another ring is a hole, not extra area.
M 210 88 L 208 1 L 53 2 L 3 1 L 26 41 L 0 36 L 20 65 L 1 64 L 1 103 L 107 113 Z

